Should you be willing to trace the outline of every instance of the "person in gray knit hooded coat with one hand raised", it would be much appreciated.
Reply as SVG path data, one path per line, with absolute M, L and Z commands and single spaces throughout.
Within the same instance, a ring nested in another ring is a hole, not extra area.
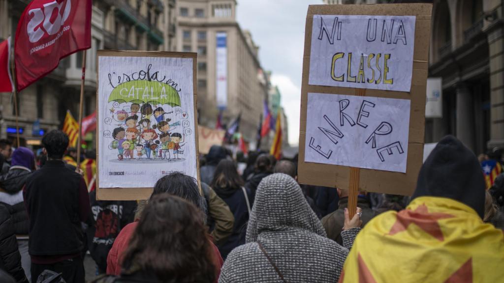
M 219 283 L 337 282 L 360 231 L 357 214 L 346 220 L 343 246 L 330 240 L 297 182 L 286 174 L 261 181 L 246 232 L 246 244 L 228 255 Z

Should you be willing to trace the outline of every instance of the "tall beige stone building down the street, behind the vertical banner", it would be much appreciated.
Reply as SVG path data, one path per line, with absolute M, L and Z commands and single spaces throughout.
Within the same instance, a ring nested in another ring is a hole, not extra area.
M 236 22 L 236 1 L 178 0 L 176 7 L 176 50 L 198 52 L 199 123 L 215 127 L 219 113 L 217 34 L 225 34 L 227 105 L 223 123 L 229 124 L 241 113 L 240 131 L 254 148 L 268 82 L 258 58 L 259 47 Z

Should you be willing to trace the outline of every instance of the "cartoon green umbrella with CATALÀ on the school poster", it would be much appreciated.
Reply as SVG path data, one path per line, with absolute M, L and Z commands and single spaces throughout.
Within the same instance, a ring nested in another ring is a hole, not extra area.
M 180 106 L 180 96 L 172 86 L 147 80 L 130 81 L 116 86 L 108 97 L 108 102 L 112 101 Z

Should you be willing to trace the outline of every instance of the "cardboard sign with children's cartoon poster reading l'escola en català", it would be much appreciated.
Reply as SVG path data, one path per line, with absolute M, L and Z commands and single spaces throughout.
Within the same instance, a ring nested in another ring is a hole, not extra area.
M 97 53 L 98 199 L 147 199 L 173 171 L 199 180 L 196 53 Z

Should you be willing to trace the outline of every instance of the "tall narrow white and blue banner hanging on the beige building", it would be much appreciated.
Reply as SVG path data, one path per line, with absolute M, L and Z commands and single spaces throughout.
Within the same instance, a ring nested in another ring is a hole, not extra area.
M 217 107 L 225 109 L 227 107 L 227 34 L 225 32 L 217 33 L 217 48 L 215 52 Z

